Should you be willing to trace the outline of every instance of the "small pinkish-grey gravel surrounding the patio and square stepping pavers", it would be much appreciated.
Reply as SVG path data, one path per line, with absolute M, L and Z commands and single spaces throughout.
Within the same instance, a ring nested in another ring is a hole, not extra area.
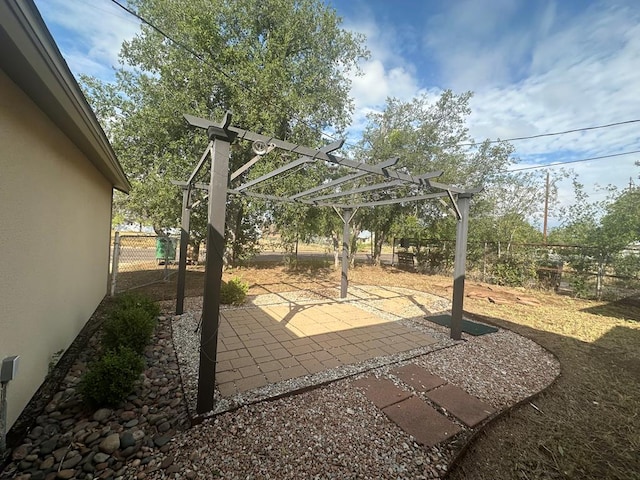
M 406 289 L 396 292 L 411 293 Z M 362 297 L 353 301 L 366 303 Z M 259 296 L 252 302 L 264 305 L 290 300 L 290 295 L 278 294 Z M 187 308 L 197 311 L 200 301 L 190 299 Z M 379 301 L 370 300 L 368 308 L 379 312 L 375 303 Z M 508 330 L 480 337 L 464 335 L 463 341 L 452 342 L 448 329 L 423 316 L 402 322 L 437 338 L 437 346 L 292 379 L 232 399 L 219 398 L 218 414 L 178 433 L 165 459 L 169 458 L 174 469 L 187 478 L 441 478 L 473 430 L 458 422 L 462 431 L 451 441 L 425 448 L 374 407 L 352 385 L 354 380 L 365 372 L 389 378 L 428 401 L 391 374 L 398 366 L 415 363 L 501 410 L 537 393 L 560 371 L 551 354 Z M 197 315 L 192 313 L 173 317 L 174 342 L 187 398 L 194 395 L 195 388 L 196 325 Z M 269 399 L 328 380 L 335 381 L 296 395 Z M 149 478 L 173 477 L 158 469 Z

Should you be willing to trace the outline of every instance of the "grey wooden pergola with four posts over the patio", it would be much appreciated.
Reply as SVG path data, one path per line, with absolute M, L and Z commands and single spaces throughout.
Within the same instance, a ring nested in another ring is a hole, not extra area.
M 245 195 L 261 200 L 333 208 L 338 215 L 340 215 L 344 223 L 342 277 L 340 284 L 341 298 L 346 298 L 347 296 L 350 222 L 358 208 L 448 198 L 458 219 L 450 335 L 452 339 L 460 340 L 462 336 L 462 309 L 464 301 L 469 204 L 473 195 L 478 193 L 480 189 L 463 189 L 434 181 L 433 179 L 439 177 L 442 172 L 412 175 L 395 170 L 392 167 L 397 163 L 398 158 L 384 160 L 377 165 L 372 165 L 334 155 L 332 152 L 340 149 L 344 141 L 337 141 L 320 149 L 313 149 L 233 127 L 231 126 L 231 114 L 229 112 L 227 112 L 222 122 L 219 123 L 187 114 L 185 114 L 184 117 L 190 125 L 206 130 L 209 139 L 207 148 L 188 180 L 186 182 L 174 182 L 174 184 L 183 188 L 182 234 L 180 239 L 180 261 L 176 301 L 177 315 L 183 313 L 184 306 L 186 254 L 190 230 L 190 209 L 192 207 L 191 192 L 194 189 L 208 191 L 207 251 L 202 307 L 197 413 L 206 413 L 214 408 L 218 327 L 220 320 L 220 286 L 222 283 L 223 251 L 225 245 L 224 234 L 227 195 Z M 256 155 L 249 162 L 229 175 L 230 146 L 231 143 L 236 140 L 253 142 L 253 151 Z M 299 158 L 235 188 L 229 187 L 230 181 L 236 179 L 275 148 L 297 154 Z M 196 177 L 209 158 L 211 160 L 210 181 L 208 184 L 197 183 L 195 181 Z M 251 187 L 255 187 L 278 175 L 282 175 L 302 165 L 314 164 L 316 162 L 327 162 L 333 165 L 348 167 L 353 170 L 353 173 L 286 197 L 258 193 L 251 190 Z M 336 191 L 336 187 L 347 185 L 354 180 L 371 175 L 381 177 L 382 181 L 366 186 Z M 347 202 L 344 200 L 339 202 L 336 200 L 382 189 L 388 191 L 389 189 L 403 185 L 419 186 L 426 190 L 426 193 L 360 202 Z M 325 191 L 325 193 L 321 194 L 322 191 Z

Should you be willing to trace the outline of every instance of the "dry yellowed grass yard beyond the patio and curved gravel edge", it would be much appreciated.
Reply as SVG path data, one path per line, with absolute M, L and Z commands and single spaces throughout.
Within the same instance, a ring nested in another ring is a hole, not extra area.
M 340 273 L 325 262 L 290 270 L 273 264 L 224 273 L 249 294 L 335 291 Z M 202 294 L 201 271 L 187 295 Z M 350 281 L 450 297 L 452 280 L 390 267 L 358 266 Z M 175 297 L 171 282 L 146 287 Z M 453 479 L 640 479 L 640 305 L 590 302 L 467 282 L 465 311 L 514 330 L 553 352 L 562 375 L 547 391 L 491 424 L 450 472 Z

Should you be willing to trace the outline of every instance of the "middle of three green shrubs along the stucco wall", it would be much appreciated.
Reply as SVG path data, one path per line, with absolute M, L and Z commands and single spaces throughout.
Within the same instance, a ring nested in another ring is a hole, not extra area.
M 127 347 L 143 353 L 151 341 L 156 316 L 144 306 L 115 308 L 102 327 L 102 346 L 106 350 Z

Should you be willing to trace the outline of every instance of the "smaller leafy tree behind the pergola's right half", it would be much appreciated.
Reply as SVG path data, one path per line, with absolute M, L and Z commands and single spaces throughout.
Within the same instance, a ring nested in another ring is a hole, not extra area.
M 473 143 L 466 128 L 470 98 L 470 92 L 456 95 L 447 90 L 435 100 L 428 94 L 409 102 L 387 99 L 382 112 L 369 115 L 357 158 L 364 161 L 399 157 L 397 168 L 414 175 L 442 171 L 439 182 L 467 188 L 487 185 L 511 162 L 512 147 L 504 142 L 465 146 Z M 418 190 L 411 185 L 394 192 L 402 197 Z M 443 222 L 443 210 L 433 202 L 376 207 L 363 213 L 363 226 L 374 232 L 374 261 L 379 262 L 382 245 L 393 231 L 413 228 L 403 225 L 410 214 L 420 218 L 422 229 L 435 237 L 440 228 L 437 225 Z M 455 223 L 451 219 L 445 223 L 450 234 Z

